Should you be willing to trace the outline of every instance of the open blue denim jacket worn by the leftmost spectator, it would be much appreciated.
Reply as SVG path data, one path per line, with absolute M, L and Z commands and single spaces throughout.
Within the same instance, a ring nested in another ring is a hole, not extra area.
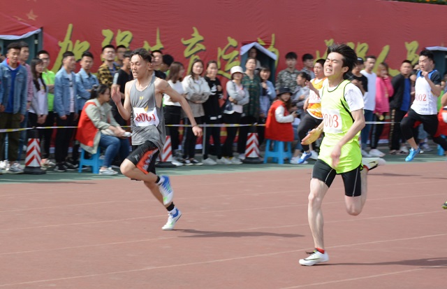
M 25 115 L 27 112 L 28 98 L 28 71 L 20 65 L 17 69 L 14 83 L 14 106 L 13 113 Z M 0 64 L 0 104 L 8 105 L 8 97 L 11 88 L 11 71 L 6 59 Z

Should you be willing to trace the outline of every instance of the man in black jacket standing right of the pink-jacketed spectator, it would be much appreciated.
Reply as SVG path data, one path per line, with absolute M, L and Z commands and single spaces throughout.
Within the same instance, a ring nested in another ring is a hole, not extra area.
M 402 132 L 400 122 L 408 112 L 411 104 L 411 62 L 404 60 L 400 66 L 400 74 L 395 76 L 393 84 L 394 94 L 390 97 L 390 155 L 406 155 L 400 150 Z

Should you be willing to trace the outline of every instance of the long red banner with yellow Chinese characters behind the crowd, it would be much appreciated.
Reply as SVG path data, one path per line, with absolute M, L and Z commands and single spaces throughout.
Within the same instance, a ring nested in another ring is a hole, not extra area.
M 0 35 L 43 28 L 53 71 L 66 50 L 77 59 L 90 50 L 97 67 L 101 47 L 111 43 L 160 49 L 186 67 L 196 58 L 215 59 L 219 75 L 228 78 L 247 43 L 258 41 L 276 54 L 279 71 L 289 51 L 299 59 L 304 53 L 318 59 L 328 45 L 344 42 L 360 57 L 387 62 L 394 75 L 403 59 L 416 63 L 425 46 L 447 43 L 435 21 L 447 14 L 447 6 L 378 0 L 15 0 L 0 14 Z

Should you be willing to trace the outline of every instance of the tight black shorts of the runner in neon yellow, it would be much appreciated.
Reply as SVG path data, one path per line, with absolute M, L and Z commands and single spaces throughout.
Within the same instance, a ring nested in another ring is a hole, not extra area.
M 358 197 L 362 195 L 362 181 L 360 179 L 360 171 L 362 169 L 362 164 L 360 164 L 358 168 L 341 174 L 344 183 L 344 195 L 348 197 Z M 337 173 L 335 172 L 335 169 L 332 169 L 329 164 L 326 164 L 322 160 L 317 160 L 315 162 L 312 178 L 322 181 L 328 188 L 330 188 L 336 175 Z

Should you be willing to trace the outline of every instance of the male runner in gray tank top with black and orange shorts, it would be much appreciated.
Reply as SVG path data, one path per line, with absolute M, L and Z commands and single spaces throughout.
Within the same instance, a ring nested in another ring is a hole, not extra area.
M 168 222 L 161 227 L 163 230 L 173 230 L 175 223 L 182 216 L 182 212 L 173 203 L 173 189 L 168 176 L 155 174 L 155 161 L 159 151 L 163 150 L 165 142 L 165 126 L 163 93 L 182 105 L 189 118 L 196 136 L 202 135 L 202 129 L 194 120 L 191 108 L 186 99 L 163 79 L 156 78 L 151 67 L 152 55 L 144 48 L 133 50 L 131 54 L 131 71 L 134 80 L 126 83 L 124 91 L 124 105 L 117 87 L 112 88 L 112 99 L 119 114 L 124 120 L 133 118 L 132 146 L 129 157 L 121 164 L 124 176 L 143 181 L 152 195 L 168 210 Z

